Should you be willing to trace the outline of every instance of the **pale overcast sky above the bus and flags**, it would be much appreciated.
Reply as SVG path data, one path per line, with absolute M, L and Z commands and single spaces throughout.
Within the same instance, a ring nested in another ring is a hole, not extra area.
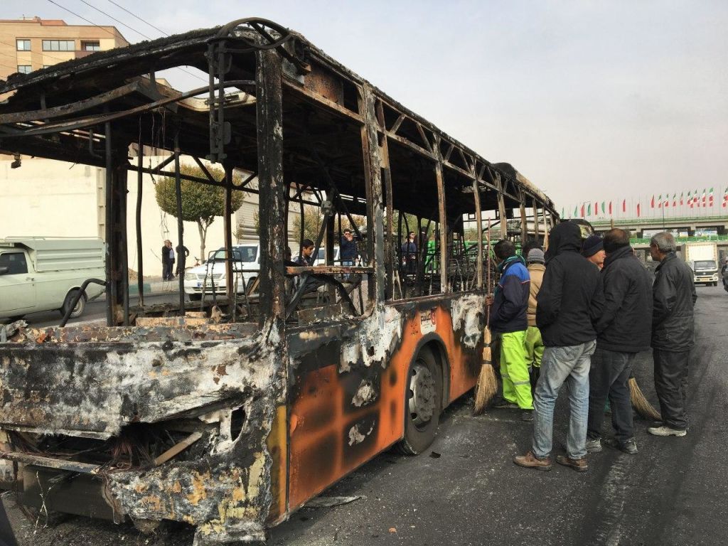
M 54 1 L 161 36 L 110 0 Z M 728 186 L 726 0 L 114 1 L 170 34 L 253 15 L 293 28 L 559 210 Z M 87 24 L 55 4 L 2 0 L 0 18 Z

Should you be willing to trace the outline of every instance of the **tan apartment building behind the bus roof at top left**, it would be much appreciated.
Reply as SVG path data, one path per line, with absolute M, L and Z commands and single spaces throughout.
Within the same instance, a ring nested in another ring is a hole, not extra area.
M 0 19 L 0 79 L 128 44 L 114 26 L 68 25 L 40 17 Z

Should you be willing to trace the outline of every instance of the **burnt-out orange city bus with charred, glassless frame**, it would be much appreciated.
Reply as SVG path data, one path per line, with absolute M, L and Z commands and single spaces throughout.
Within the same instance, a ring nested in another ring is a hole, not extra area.
M 158 81 L 179 66 L 207 83 Z M 106 173 L 106 278 L 89 280 L 106 287 L 106 324 L 1 327 L 0 460 L 36 510 L 186 522 L 198 545 L 261 539 L 381 451 L 424 451 L 480 371 L 483 233 L 523 242 L 558 221 L 513 167 L 268 20 L 15 74 L 0 94 L 0 151 Z M 153 148 L 166 159 L 146 166 Z M 184 175 L 181 161 L 225 177 Z M 175 178 L 178 207 L 183 179 L 221 186 L 227 212 L 233 192 L 257 192 L 256 282 L 191 302 L 180 278 L 163 309 L 130 299 L 129 252 L 143 243 L 127 186 L 144 173 Z M 323 218 L 322 265 L 286 256 L 300 245 L 288 215 L 306 205 Z M 342 220 L 360 263 L 334 261 Z

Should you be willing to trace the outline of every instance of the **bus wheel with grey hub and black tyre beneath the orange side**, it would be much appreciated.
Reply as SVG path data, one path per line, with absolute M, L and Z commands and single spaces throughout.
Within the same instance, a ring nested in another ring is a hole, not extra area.
M 440 423 L 443 373 L 430 349 L 422 349 L 407 373 L 405 437 L 397 449 L 417 455 L 430 447 Z

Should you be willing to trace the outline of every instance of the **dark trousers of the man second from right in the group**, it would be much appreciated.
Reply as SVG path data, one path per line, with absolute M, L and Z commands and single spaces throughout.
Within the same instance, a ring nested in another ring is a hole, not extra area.
M 627 381 L 632 373 L 634 359 L 633 352 L 608 351 L 600 349 L 597 345 L 589 370 L 587 438 L 590 440 L 601 438 L 607 397 L 612 407 L 614 438 L 617 438 L 619 443 L 625 443 L 633 437 L 632 403 Z

